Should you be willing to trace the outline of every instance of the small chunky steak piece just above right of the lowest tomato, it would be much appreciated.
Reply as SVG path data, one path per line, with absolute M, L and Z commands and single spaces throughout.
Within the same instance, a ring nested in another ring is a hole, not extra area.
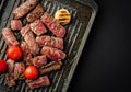
M 37 56 L 32 59 L 32 64 L 36 66 L 37 68 L 44 66 L 47 64 L 46 55 Z

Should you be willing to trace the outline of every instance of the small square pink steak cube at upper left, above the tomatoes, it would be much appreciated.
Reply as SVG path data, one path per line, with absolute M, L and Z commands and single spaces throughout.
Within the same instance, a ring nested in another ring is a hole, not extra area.
M 21 30 L 22 28 L 21 20 L 11 20 L 11 28 L 12 30 Z

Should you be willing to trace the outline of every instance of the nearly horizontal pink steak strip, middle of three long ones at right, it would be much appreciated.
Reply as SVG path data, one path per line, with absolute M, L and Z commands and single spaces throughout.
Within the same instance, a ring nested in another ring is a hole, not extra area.
M 63 49 L 63 39 L 60 37 L 44 35 L 36 37 L 36 42 L 39 46 L 50 46 L 61 50 Z

